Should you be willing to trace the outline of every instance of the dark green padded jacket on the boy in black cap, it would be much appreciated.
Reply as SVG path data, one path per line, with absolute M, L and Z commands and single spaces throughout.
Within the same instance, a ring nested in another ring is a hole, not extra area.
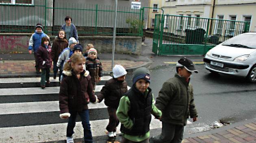
M 163 122 L 185 126 L 189 116 L 197 117 L 193 87 L 178 74 L 163 84 L 155 105 L 162 111 Z

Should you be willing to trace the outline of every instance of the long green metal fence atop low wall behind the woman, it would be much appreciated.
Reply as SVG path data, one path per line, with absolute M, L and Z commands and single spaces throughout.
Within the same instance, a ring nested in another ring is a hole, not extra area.
M 33 33 L 41 23 L 43 31 L 56 35 L 66 16 L 72 17 L 79 35 L 113 35 L 114 6 L 34 0 L 33 4 L 1 4 L 1 33 Z M 144 9 L 117 8 L 117 35 L 142 36 Z

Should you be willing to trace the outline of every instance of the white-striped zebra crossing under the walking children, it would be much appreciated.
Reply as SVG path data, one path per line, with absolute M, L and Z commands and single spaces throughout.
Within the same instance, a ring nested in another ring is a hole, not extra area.
M 103 76 L 95 95 L 111 76 Z M 50 78 L 50 87 L 39 88 L 40 78 L 0 78 L 0 143 L 41 143 L 65 140 L 68 119 L 59 118 L 59 82 Z M 89 104 L 93 137 L 106 135 L 108 112 L 104 101 Z M 120 124 L 117 127 L 120 133 Z M 161 128 L 152 118 L 150 129 Z M 74 139 L 83 137 L 80 117 Z

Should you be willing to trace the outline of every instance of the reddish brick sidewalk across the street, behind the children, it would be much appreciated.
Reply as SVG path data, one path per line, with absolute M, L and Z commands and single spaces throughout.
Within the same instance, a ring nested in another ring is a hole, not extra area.
M 102 60 L 101 62 L 103 71 L 112 71 L 111 60 Z M 128 69 L 145 63 L 147 62 L 116 60 L 114 64 L 123 65 L 124 68 Z M 35 61 L 0 61 L 0 74 L 28 74 L 35 72 Z

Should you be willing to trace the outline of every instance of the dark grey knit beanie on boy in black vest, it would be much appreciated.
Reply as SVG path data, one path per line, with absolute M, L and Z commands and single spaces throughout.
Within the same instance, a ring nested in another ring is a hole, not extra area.
M 145 67 L 136 69 L 132 74 L 132 84 L 135 84 L 139 79 L 150 82 L 150 71 Z

